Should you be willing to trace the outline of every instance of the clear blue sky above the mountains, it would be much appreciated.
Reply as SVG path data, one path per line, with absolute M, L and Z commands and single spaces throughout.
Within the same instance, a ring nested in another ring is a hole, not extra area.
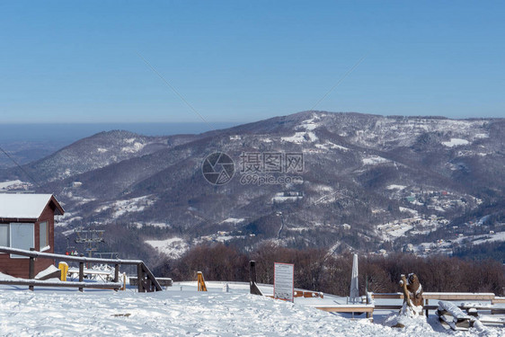
M 0 2 L 0 122 L 505 117 L 505 3 Z

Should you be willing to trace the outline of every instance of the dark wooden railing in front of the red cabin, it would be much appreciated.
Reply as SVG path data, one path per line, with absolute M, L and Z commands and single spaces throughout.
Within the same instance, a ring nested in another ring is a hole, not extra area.
M 13 253 L 17 255 L 27 256 L 30 258 L 29 263 L 29 279 L 2 279 L 0 284 L 9 285 L 28 285 L 30 290 L 34 286 L 46 287 L 74 287 L 83 291 L 83 288 L 111 288 L 118 290 L 121 288 L 120 283 L 120 265 L 136 265 L 137 266 L 137 289 L 138 292 L 151 292 L 163 290 L 155 276 L 141 260 L 121 260 L 121 259 L 97 259 L 84 256 L 69 256 L 55 253 L 40 253 L 33 250 L 25 251 L 17 248 L 9 248 L 0 246 L 0 253 Z M 79 281 L 78 282 L 48 282 L 35 278 L 34 266 L 35 259 L 51 259 L 65 262 L 79 263 Z M 92 283 L 84 282 L 84 263 L 104 263 L 114 265 L 114 279 L 110 283 Z

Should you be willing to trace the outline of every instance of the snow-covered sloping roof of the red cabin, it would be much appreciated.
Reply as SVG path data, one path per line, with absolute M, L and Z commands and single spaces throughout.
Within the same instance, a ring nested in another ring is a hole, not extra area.
M 52 194 L 14 194 L 0 193 L 0 217 L 37 219 L 48 205 Z M 63 214 L 63 208 L 59 206 L 58 200 L 55 214 Z

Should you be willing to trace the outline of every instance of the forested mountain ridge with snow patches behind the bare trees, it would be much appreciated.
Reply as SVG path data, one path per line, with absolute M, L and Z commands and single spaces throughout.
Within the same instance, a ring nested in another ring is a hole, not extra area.
M 145 252 L 154 249 L 146 240 L 172 238 L 168 248 L 275 240 L 332 252 L 411 244 L 417 253 L 444 239 L 451 244 L 432 251 L 449 253 L 470 231 L 501 231 L 504 144 L 504 119 L 304 111 L 199 135 L 100 133 L 25 169 L 65 204 L 60 232 L 122 226 Z M 220 186 L 205 180 L 201 166 L 216 152 L 235 162 L 235 176 Z M 300 154 L 301 172 L 267 175 L 297 175 L 303 183 L 246 183 L 241 170 L 252 154 Z M 0 178 L 28 181 L 15 169 Z M 481 226 L 469 224 L 484 216 Z

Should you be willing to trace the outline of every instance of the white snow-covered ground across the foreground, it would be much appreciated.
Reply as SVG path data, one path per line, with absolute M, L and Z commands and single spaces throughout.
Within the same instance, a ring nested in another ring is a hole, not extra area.
M 367 319 L 351 320 L 310 307 L 247 294 L 246 285 L 175 283 L 168 291 L 0 288 L 1 336 L 501 336 L 502 328 L 445 330 L 436 317 L 397 329 Z M 262 288 L 269 291 L 269 289 Z M 271 288 L 270 288 L 271 293 Z M 325 301 L 333 301 L 324 297 Z M 345 301 L 345 298 L 343 298 Z M 337 301 L 335 301 L 337 302 Z M 345 303 L 345 302 L 344 302 Z M 377 317 L 385 321 L 386 317 Z

